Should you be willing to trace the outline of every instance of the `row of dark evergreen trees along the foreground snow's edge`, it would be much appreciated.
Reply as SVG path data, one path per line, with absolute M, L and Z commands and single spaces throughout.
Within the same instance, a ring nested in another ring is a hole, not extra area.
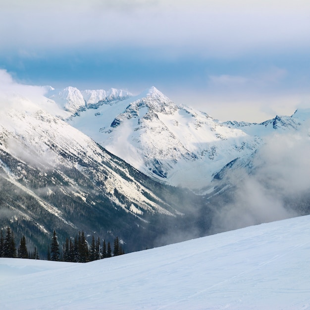
M 47 259 L 54 261 L 88 262 L 122 254 L 125 254 L 125 252 L 118 237 L 114 239 L 113 251 L 110 242 L 106 243 L 103 239 L 101 243 L 100 237 L 95 240 L 94 235 L 89 245 L 84 231 L 82 233 L 79 232 L 74 238 L 67 237 L 65 243 L 60 247 L 54 230 L 51 245 L 48 246 Z M 2 229 L 0 232 L 0 257 L 39 259 L 37 247 L 32 252 L 27 250 L 25 236 L 21 237 L 18 249 L 16 249 L 14 233 L 9 227 L 6 228 L 5 237 Z

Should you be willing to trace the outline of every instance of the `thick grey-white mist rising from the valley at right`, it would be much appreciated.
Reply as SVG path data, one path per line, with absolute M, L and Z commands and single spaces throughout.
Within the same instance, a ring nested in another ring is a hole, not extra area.
M 255 155 L 253 169 L 227 175 L 235 186 L 231 203 L 221 208 L 213 231 L 237 229 L 296 216 L 310 190 L 309 125 L 296 134 L 274 135 Z

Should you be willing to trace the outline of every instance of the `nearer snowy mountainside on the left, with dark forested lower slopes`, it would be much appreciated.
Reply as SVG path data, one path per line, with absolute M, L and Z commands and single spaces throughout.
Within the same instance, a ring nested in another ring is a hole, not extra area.
M 17 94 L 12 100 L 0 115 L 1 227 L 32 235 L 40 250 L 57 228 L 60 238 L 82 229 L 117 234 L 133 251 L 184 221 L 191 193 L 158 184 L 107 152 L 62 119 L 74 111 L 59 103 Z

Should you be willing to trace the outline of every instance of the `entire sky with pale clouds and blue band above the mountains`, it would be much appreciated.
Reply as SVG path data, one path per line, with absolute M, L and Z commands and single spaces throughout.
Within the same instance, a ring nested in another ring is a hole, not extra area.
M 0 0 L 0 69 L 54 88 L 155 86 L 222 120 L 310 106 L 309 0 Z

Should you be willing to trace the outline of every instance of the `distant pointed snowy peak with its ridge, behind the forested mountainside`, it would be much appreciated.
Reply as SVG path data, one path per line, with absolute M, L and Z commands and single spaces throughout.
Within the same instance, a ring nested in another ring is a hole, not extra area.
M 155 87 L 72 113 L 68 123 L 111 153 L 161 182 L 201 194 L 212 189 L 211 181 L 227 164 L 247 161 L 264 145 L 264 137 L 296 131 L 304 122 L 300 115 L 307 116 L 297 111 L 260 124 L 220 122 L 176 105 Z

